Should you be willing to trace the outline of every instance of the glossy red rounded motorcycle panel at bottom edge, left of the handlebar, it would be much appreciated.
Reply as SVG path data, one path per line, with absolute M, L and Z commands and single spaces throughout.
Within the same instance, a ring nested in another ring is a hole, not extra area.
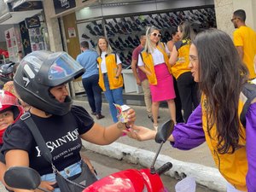
M 103 177 L 83 192 L 142 192 L 145 188 L 142 173 L 135 169 L 128 169 Z

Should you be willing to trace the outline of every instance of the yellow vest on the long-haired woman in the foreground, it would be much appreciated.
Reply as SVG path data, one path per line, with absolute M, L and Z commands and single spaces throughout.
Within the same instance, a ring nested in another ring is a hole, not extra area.
M 246 102 L 246 98 L 242 93 L 238 104 L 238 115 L 240 117 L 241 110 Z M 209 137 L 207 133 L 207 102 L 205 96 L 202 96 L 202 125 L 205 132 L 207 145 L 211 150 L 213 160 L 218 167 L 219 172 L 223 177 L 231 183 L 236 189 L 241 191 L 247 191 L 246 175 L 248 171 L 247 166 L 247 153 L 246 153 L 246 129 L 241 125 L 239 137 L 239 146 L 236 148 L 234 154 L 218 154 L 218 140 L 216 135 L 216 124 L 213 125 L 210 133 L 212 137 Z

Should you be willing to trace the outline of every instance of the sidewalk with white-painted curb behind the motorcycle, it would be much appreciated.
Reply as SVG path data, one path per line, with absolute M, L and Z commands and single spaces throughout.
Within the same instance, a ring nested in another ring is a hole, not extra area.
M 89 103 L 83 101 L 85 99 L 85 97 L 81 97 L 79 100 L 75 100 L 73 104 L 83 106 L 90 113 Z M 153 124 L 148 119 L 146 108 L 143 106 L 130 106 L 137 113 L 136 124 L 153 129 Z M 94 117 L 96 123 L 104 126 L 113 124 L 107 103 L 102 104 L 102 114 L 105 115 L 104 119 L 97 120 Z M 168 109 L 160 108 L 159 124 L 169 118 Z M 115 143 L 108 146 L 98 146 L 86 142 L 83 144 L 85 148 L 96 153 L 105 154 L 119 160 L 125 159 L 131 163 L 139 163 L 142 166 L 150 166 L 154 153 L 159 147 L 154 141 L 137 142 L 129 137 L 120 137 Z M 209 189 L 225 191 L 224 178 L 220 175 L 218 169 L 215 168 L 212 154 L 210 154 L 206 143 L 189 151 L 181 151 L 172 148 L 169 143 L 165 143 L 160 151 L 156 165 L 163 165 L 167 161 L 171 161 L 173 164 L 172 169 L 167 172 L 167 175 L 179 177 L 184 173 L 187 176 L 195 177 L 197 183 L 207 186 Z

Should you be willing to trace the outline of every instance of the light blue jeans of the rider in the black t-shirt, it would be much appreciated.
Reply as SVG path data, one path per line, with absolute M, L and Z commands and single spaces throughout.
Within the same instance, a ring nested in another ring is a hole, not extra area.
M 81 163 L 80 161 L 71 165 L 67 166 L 63 171 L 61 171 L 61 175 L 63 177 L 71 177 L 73 175 L 78 174 L 79 172 L 82 172 L 81 170 Z M 55 182 L 55 174 L 49 173 L 46 175 L 41 176 L 42 181 L 49 181 L 49 182 Z M 55 188 L 53 192 L 61 192 L 60 188 Z

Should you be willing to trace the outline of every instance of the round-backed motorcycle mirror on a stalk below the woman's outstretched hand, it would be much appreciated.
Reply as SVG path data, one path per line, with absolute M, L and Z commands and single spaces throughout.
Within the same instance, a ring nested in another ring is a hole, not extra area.
M 172 119 L 167 120 L 164 124 L 160 125 L 156 136 L 154 137 L 154 141 L 156 143 L 165 143 L 168 137 L 171 136 L 172 131 L 174 129 L 174 122 Z

